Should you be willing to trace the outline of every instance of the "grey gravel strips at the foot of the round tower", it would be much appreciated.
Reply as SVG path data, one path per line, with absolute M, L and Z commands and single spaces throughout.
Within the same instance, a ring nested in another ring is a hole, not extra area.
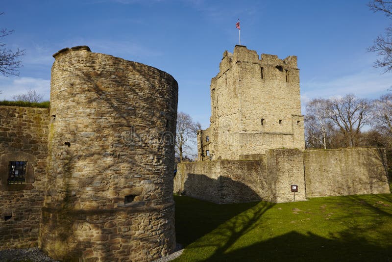
M 175 250 L 172 254 L 155 260 L 153 262 L 167 262 L 178 258 L 182 254 L 182 245 L 176 244 Z M 38 247 L 31 248 L 18 248 L 18 249 L 7 249 L 0 251 L 0 262 L 13 262 L 13 261 L 32 261 L 32 262 L 58 262 L 54 259 L 49 258 L 42 252 Z

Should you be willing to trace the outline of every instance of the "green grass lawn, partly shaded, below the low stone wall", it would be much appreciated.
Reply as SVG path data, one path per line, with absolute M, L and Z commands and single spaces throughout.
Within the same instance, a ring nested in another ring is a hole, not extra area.
M 175 261 L 391 261 L 392 195 L 217 205 L 174 196 Z

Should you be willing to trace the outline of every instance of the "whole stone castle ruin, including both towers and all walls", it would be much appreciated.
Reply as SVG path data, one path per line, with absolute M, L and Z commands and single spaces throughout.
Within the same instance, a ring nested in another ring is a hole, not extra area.
M 219 204 L 390 193 L 383 149 L 305 150 L 295 56 L 223 53 L 199 161 L 174 178 L 175 79 L 87 46 L 53 56 L 50 109 L 0 106 L 0 250 L 158 259 L 175 246 L 173 191 Z

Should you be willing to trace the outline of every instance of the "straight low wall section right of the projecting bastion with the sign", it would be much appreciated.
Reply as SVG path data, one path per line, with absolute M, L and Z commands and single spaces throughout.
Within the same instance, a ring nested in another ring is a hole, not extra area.
M 390 193 L 384 149 L 306 150 L 308 197 Z

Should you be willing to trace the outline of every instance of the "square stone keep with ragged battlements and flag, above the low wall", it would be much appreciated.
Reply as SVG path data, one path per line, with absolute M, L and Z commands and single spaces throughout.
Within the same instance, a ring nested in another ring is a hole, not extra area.
M 225 51 L 211 80 L 211 125 L 198 159 L 239 159 L 268 149 L 305 149 L 296 56 L 281 60 L 245 46 Z

